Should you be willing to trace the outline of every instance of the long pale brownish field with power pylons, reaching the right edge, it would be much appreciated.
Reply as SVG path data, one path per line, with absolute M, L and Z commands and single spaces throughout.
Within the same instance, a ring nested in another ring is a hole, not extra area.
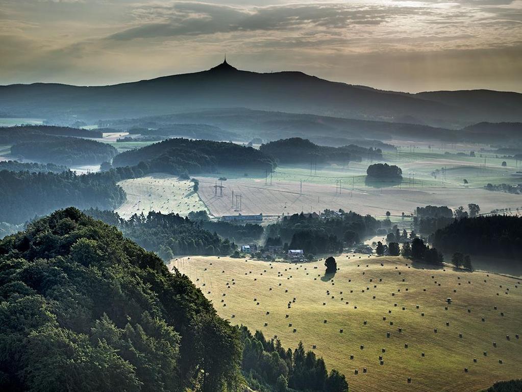
M 276 170 L 277 174 L 277 170 Z M 338 193 L 335 180 L 330 184 L 304 182 L 302 193 L 300 182 L 278 181 L 277 175 L 272 176 L 272 185 L 265 185 L 265 179 L 229 178 L 223 182 L 223 197 L 216 196 L 214 185 L 216 178 L 197 176 L 199 180 L 198 194 L 210 209 L 212 215 L 288 215 L 301 211 L 322 211 L 326 208 L 337 210 L 352 210 L 361 214 L 382 216 L 386 211 L 392 215 L 406 215 L 418 206 L 434 205 L 456 208 L 477 203 L 481 211 L 490 212 L 496 208 L 511 208 L 516 210 L 522 206 L 520 195 L 491 192 L 483 188 L 442 187 L 442 186 L 404 186 L 374 188 L 369 186 L 342 187 Z M 295 178 L 299 178 L 296 176 Z M 363 180 L 364 181 L 364 180 Z M 237 208 L 234 195 L 241 195 L 241 211 Z

